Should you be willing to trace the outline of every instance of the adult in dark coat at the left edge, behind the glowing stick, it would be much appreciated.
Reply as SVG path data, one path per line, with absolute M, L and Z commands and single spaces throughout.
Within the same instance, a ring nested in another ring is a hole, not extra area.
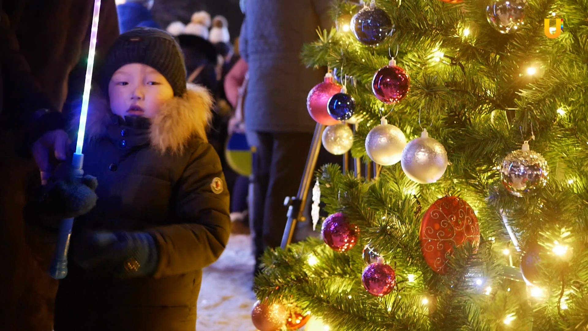
M 39 186 L 29 149 L 41 137 L 33 153 L 39 166 L 65 158 L 54 148 L 65 147 L 67 135 L 54 130 L 65 128 L 59 111 L 68 85 L 77 97 L 83 89 L 86 61 L 78 62 L 87 58 L 93 0 L 4 0 L 0 9 L 0 329 L 51 331 L 57 282 L 47 270 L 54 247 L 23 214 L 26 188 Z M 117 36 L 114 1 L 102 1 L 98 59 Z

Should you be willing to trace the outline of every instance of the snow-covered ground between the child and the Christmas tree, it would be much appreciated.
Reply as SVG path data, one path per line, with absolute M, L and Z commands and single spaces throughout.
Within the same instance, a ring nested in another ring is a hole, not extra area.
M 251 236 L 231 234 L 218 261 L 203 270 L 196 330 L 256 330 L 251 322 L 254 264 Z

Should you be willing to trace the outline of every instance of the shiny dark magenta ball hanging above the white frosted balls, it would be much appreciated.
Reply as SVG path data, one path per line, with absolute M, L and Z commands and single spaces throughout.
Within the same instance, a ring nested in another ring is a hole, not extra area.
M 385 104 L 395 104 L 410 91 L 410 77 L 405 69 L 398 67 L 396 61 L 391 59 L 389 65 L 373 75 L 372 91 L 377 100 Z

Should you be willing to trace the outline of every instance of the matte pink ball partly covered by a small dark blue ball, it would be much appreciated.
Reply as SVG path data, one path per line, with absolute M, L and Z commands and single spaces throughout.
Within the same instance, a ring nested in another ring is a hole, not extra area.
M 333 75 L 325 75 L 325 81 L 315 85 L 306 98 L 306 108 L 313 120 L 322 125 L 335 125 L 339 121 L 332 118 L 327 110 L 329 99 L 341 92 L 341 85 L 333 82 Z

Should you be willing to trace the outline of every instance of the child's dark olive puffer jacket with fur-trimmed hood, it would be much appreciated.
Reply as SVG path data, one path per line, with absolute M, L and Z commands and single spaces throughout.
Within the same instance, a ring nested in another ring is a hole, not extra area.
M 147 231 L 159 263 L 149 277 L 114 279 L 69 263 L 56 299 L 55 331 L 193 331 L 202 268 L 229 239 L 229 193 L 206 141 L 211 97 L 189 85 L 152 120 L 124 119 L 93 105 L 84 171 L 98 178 L 98 203 L 81 230 Z M 75 253 L 72 245 L 71 253 Z

